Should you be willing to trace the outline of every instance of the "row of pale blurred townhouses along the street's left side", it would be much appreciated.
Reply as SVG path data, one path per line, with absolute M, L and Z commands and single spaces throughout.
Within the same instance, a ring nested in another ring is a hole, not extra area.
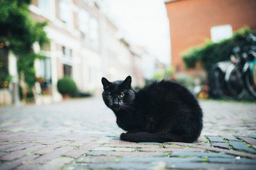
M 83 0 L 31 1 L 31 16 L 38 22 L 47 21 L 45 32 L 50 39 L 49 44 L 38 50 L 47 58 L 35 61 L 36 78 L 42 81 L 42 91 L 47 94 L 47 99 L 41 97 L 39 103 L 61 100 L 57 82 L 63 76 L 70 76 L 79 92 L 96 95 L 102 91 L 102 76 L 113 81 L 124 80 L 129 74 L 134 87 L 145 84 L 141 60 L 148 56 L 147 52 L 122 36 L 99 8 L 99 3 Z M 15 69 L 13 67 L 15 64 L 9 69 Z M 1 104 L 12 103 L 12 93 L 12 88 L 1 92 Z

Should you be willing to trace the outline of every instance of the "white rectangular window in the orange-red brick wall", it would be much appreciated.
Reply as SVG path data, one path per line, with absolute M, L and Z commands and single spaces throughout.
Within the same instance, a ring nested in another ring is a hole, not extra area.
M 232 37 L 231 25 L 219 25 L 211 27 L 211 39 L 213 42 L 220 42 L 222 39 Z

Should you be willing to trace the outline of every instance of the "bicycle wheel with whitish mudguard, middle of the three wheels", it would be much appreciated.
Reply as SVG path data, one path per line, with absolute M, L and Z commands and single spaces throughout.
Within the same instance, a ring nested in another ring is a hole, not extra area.
M 225 75 L 228 91 L 234 99 L 241 100 L 246 94 L 241 66 L 231 65 Z

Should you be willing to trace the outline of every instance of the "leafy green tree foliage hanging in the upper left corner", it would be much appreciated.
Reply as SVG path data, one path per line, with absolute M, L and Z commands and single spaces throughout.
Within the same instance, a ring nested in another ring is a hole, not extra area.
M 24 73 L 29 89 L 36 82 L 35 59 L 44 57 L 33 52 L 32 45 L 38 41 L 42 46 L 49 41 L 44 31 L 46 22 L 36 22 L 29 16 L 30 3 L 31 0 L 0 0 L 0 41 L 17 56 L 19 74 Z

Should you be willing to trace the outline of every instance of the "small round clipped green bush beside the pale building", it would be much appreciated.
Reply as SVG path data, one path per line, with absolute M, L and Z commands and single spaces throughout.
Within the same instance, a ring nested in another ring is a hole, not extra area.
M 58 80 L 57 88 L 62 95 L 75 96 L 77 93 L 75 81 L 68 76 L 65 76 Z

